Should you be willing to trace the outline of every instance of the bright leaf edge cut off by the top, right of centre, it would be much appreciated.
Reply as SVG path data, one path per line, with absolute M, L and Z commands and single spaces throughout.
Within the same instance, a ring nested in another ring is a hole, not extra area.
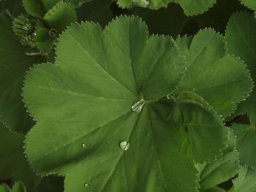
M 123 8 L 138 5 L 150 9 L 159 9 L 167 7 L 170 2 L 180 4 L 186 15 L 198 15 L 206 12 L 216 3 L 216 0 L 118 0 L 117 4 Z

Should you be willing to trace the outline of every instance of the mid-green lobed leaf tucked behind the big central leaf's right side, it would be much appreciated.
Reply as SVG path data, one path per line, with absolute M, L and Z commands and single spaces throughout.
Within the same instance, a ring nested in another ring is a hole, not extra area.
M 211 29 L 199 31 L 190 45 L 184 46 L 184 42 L 181 45 L 180 51 L 188 64 L 176 93 L 193 91 L 219 114 L 230 115 L 236 103 L 252 91 L 246 65 L 234 56 L 225 55 L 224 38 Z

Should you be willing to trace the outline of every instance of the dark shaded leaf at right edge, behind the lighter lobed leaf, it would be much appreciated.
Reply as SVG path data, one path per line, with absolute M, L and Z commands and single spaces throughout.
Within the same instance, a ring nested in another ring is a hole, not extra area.
M 240 12 L 233 15 L 226 29 L 227 53 L 241 57 L 256 80 L 256 21 L 253 15 Z M 256 90 L 246 101 L 239 104 L 236 114 L 248 112 L 252 123 L 256 123 Z

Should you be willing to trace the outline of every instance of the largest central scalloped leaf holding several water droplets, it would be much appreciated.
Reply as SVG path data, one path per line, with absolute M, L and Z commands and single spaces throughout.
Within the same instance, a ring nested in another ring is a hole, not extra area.
M 184 72 L 173 39 L 121 17 L 104 30 L 72 25 L 56 50 L 56 64 L 35 66 L 23 88 L 38 122 L 26 155 L 39 174 L 66 175 L 65 191 L 198 191 L 189 158 L 219 155 L 226 128 L 200 104 L 157 102 Z

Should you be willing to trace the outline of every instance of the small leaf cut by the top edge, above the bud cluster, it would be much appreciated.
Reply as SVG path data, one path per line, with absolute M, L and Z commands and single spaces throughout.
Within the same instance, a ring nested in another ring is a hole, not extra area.
M 45 14 L 61 0 L 23 0 L 26 11 L 36 17 L 43 18 Z

